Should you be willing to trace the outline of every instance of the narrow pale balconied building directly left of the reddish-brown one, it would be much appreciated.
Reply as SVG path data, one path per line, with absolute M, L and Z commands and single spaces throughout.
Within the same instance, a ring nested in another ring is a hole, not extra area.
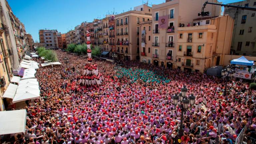
M 109 16 L 106 16 L 105 18 L 102 19 L 103 23 L 103 50 L 104 51 L 109 51 L 109 43 L 108 43 L 108 20 Z

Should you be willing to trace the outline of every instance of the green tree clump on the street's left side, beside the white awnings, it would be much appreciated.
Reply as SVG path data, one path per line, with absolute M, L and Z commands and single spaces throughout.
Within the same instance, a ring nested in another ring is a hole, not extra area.
M 47 60 L 51 60 L 52 62 L 58 61 L 56 53 L 52 50 L 46 50 L 45 47 L 38 47 L 36 51 L 40 57 L 45 57 Z

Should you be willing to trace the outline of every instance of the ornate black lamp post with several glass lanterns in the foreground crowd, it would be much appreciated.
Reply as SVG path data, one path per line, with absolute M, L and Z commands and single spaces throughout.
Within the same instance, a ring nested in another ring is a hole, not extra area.
M 180 128 L 179 128 L 179 133 L 178 135 L 175 137 L 175 144 L 178 144 L 178 139 L 181 139 L 181 137 L 183 136 L 183 118 L 184 118 L 184 112 L 186 112 L 186 110 L 188 109 L 188 105 L 194 105 L 195 102 L 195 96 L 193 94 L 190 95 L 189 99 L 187 98 L 187 91 L 188 89 L 186 88 L 186 86 L 183 86 L 183 88 L 181 89 L 181 92 L 179 93 L 179 96 L 177 94 L 175 94 L 173 96 L 173 103 L 175 105 L 175 109 L 176 109 L 176 105 L 178 104 L 178 101 L 180 101 L 180 109 L 181 109 L 181 118 L 180 118 Z

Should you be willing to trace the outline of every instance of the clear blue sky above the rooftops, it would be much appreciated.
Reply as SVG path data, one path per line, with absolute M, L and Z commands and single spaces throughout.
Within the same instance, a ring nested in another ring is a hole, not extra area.
M 142 4 L 142 0 L 7 0 L 13 13 L 24 23 L 27 33 L 39 41 L 39 29 L 57 29 L 66 33 L 83 21 L 103 18 L 115 9 L 115 13 L 128 11 Z M 144 0 L 146 2 L 146 0 Z M 160 4 L 165 0 L 149 0 Z M 203 0 L 204 1 L 204 0 Z M 219 0 L 223 3 L 240 0 Z

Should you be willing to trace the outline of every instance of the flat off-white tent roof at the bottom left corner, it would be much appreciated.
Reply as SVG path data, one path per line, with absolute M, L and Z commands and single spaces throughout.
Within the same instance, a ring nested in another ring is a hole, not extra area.
M 0 135 L 25 132 L 26 110 L 0 111 Z

